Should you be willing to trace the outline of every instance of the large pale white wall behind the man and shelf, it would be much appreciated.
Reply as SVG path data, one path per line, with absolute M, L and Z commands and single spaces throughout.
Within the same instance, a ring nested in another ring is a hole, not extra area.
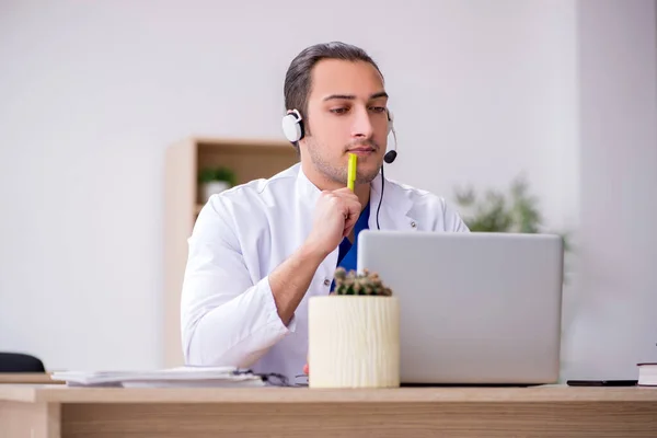
M 164 148 L 283 138 L 285 70 L 316 42 L 379 61 L 390 176 L 450 197 L 527 171 L 548 223 L 575 226 L 574 1 L 382 4 L 0 3 L 0 350 L 159 366 Z

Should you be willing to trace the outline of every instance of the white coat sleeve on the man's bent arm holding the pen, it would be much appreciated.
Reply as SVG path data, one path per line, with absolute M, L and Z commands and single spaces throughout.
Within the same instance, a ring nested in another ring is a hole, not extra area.
M 188 239 L 183 351 L 187 365 L 247 368 L 293 332 L 296 320 L 280 320 L 268 276 L 252 281 L 233 220 L 217 200 L 203 208 Z

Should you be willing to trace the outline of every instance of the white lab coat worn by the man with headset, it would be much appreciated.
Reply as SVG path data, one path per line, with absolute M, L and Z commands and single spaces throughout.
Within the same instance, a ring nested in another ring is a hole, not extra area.
M 369 228 L 377 229 L 381 174 L 372 182 Z M 187 364 L 302 373 L 308 353 L 308 298 L 327 295 L 338 247 L 316 270 L 286 326 L 268 274 L 306 240 L 320 191 L 299 163 L 273 176 L 214 195 L 188 240 L 182 291 L 182 339 Z M 442 198 L 385 180 L 382 230 L 468 231 Z

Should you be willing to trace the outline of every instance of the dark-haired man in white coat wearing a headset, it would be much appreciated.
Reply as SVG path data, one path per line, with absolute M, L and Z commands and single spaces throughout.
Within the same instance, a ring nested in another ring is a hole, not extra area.
M 338 265 L 356 268 L 360 230 L 468 231 L 442 198 L 383 180 L 392 120 L 383 77 L 364 50 L 304 49 L 284 92 L 284 130 L 300 163 L 212 196 L 189 238 L 187 364 L 293 379 L 307 359 L 307 300 L 331 291 Z M 354 192 L 348 153 L 358 157 Z

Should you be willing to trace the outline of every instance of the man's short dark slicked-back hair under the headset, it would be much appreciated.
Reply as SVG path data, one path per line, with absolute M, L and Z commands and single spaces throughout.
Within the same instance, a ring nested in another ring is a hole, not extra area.
M 308 95 L 312 85 L 311 73 L 315 64 L 322 59 L 369 62 L 381 74 L 381 79 L 383 79 L 379 66 L 364 49 L 341 42 L 315 44 L 301 50 L 288 67 L 283 90 L 286 110 L 296 108 L 301 113 L 303 118 L 308 118 Z M 304 128 L 308 134 L 308 124 L 306 124 Z

